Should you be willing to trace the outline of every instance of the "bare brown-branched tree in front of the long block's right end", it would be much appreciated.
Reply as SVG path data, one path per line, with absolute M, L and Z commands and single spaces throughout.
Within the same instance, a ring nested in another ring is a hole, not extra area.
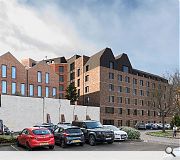
M 180 113 L 180 80 L 179 72 L 168 76 L 168 83 L 159 81 L 156 87 L 150 89 L 151 107 L 157 111 L 162 120 L 163 132 L 165 132 L 165 118 L 175 113 Z

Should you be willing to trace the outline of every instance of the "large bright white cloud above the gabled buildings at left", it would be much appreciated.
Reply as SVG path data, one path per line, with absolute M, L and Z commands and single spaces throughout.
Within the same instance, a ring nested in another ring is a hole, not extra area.
M 16 0 L 0 0 L 0 53 L 43 59 L 96 47 L 84 43 L 73 24 L 53 5 L 35 10 Z M 69 54 L 70 55 L 70 54 Z

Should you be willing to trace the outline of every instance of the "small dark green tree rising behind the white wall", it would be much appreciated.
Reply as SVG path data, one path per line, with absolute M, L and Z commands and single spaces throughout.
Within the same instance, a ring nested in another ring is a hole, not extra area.
M 73 84 L 70 84 L 66 89 L 66 98 L 74 104 L 78 100 L 77 89 Z

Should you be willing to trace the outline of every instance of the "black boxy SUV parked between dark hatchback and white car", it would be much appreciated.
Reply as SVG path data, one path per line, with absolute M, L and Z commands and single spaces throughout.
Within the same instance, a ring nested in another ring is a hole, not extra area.
M 73 126 L 78 126 L 84 133 L 85 141 L 91 146 L 96 145 L 97 142 L 107 142 L 112 144 L 114 142 L 114 132 L 110 129 L 103 128 L 99 121 L 73 121 Z

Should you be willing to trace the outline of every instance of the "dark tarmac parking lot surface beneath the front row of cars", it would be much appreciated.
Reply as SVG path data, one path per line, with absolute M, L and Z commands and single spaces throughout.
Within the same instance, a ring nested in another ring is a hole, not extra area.
M 147 142 L 135 142 L 124 141 L 114 142 L 113 144 L 97 144 L 96 146 L 90 146 L 85 144 L 82 146 L 68 146 L 67 148 L 61 148 L 55 145 L 53 151 L 164 151 L 167 145 L 147 143 Z M 176 147 L 176 146 L 172 146 Z M 17 147 L 16 145 L 1 146 L 0 151 L 27 151 L 24 147 Z M 36 148 L 34 151 L 50 151 L 48 148 Z

